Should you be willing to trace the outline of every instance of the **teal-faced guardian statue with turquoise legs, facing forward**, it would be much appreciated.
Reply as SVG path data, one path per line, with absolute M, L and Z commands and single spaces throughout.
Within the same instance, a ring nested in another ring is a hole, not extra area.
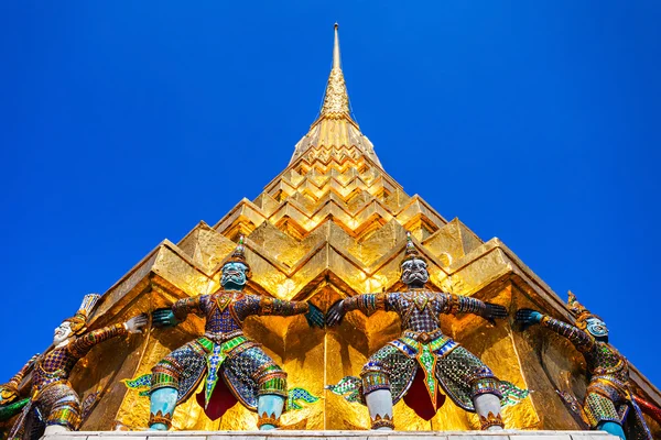
M 181 299 L 154 315 L 156 324 L 175 324 L 188 314 L 205 318 L 206 324 L 203 337 L 174 350 L 153 367 L 151 429 L 169 429 L 175 406 L 189 398 L 205 377 L 204 393 L 197 400 L 212 419 L 220 417 L 238 400 L 258 411 L 260 429 L 279 426 L 288 397 L 286 373 L 258 342 L 243 334 L 243 321 L 252 315 L 306 314 L 311 324 L 314 321 L 323 326 L 323 316 L 307 302 L 242 293 L 250 273 L 242 240 L 223 266 L 221 290 Z M 224 393 L 226 387 L 230 393 Z

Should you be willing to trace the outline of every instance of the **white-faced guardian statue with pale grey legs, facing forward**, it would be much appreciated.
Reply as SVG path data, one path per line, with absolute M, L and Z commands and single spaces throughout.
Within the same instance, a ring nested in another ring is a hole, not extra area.
M 407 292 L 358 295 L 330 309 L 328 326 L 337 324 L 344 314 L 353 310 L 367 316 L 376 310 L 393 311 L 400 316 L 403 332 L 370 356 L 360 378 L 348 376 L 328 388 L 349 402 L 366 403 L 368 408 L 372 406 L 372 429 L 393 429 L 392 405 L 405 399 L 419 377 L 431 400 L 431 410 L 421 408 L 420 399 L 407 404 L 421 417 L 429 420 L 436 413 L 441 387 L 457 406 L 477 411 L 483 429 L 501 429 L 502 393 L 508 395 L 508 403 L 513 403 L 525 397 L 527 392 L 500 382 L 477 356 L 443 334 L 440 326 L 444 314 L 475 314 L 494 319 L 505 318 L 507 311 L 502 306 L 479 299 L 431 292 L 424 287 L 427 279 L 426 262 L 409 234 L 407 256 L 402 262 L 402 282 L 408 286 Z M 378 402 L 370 397 L 372 394 L 380 394 Z M 480 396 L 489 396 L 486 405 Z

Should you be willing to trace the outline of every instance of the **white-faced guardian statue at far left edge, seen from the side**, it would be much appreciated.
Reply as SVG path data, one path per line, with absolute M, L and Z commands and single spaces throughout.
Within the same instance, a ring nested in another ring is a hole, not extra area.
M 54 348 L 43 355 L 33 356 L 21 371 L 3 385 L 4 396 L 18 395 L 28 371 L 32 371 L 30 400 L 14 424 L 9 439 L 37 439 L 43 433 L 59 430 L 77 430 L 82 422 L 78 394 L 68 381 L 74 366 L 96 344 L 111 338 L 139 332 L 147 317 L 139 316 L 124 323 L 117 323 L 86 332 L 87 317 L 99 295 L 86 295 L 78 312 L 55 329 Z

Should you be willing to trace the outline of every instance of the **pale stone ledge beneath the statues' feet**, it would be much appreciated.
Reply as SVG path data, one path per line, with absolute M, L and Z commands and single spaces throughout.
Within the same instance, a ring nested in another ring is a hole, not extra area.
M 79 431 L 43 440 L 619 440 L 605 431 Z

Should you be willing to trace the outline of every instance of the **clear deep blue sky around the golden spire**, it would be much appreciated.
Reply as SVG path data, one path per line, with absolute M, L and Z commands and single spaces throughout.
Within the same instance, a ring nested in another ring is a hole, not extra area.
M 661 3 L 411 4 L 1 2 L 0 382 L 286 166 L 338 21 L 386 170 L 574 290 L 661 385 Z

